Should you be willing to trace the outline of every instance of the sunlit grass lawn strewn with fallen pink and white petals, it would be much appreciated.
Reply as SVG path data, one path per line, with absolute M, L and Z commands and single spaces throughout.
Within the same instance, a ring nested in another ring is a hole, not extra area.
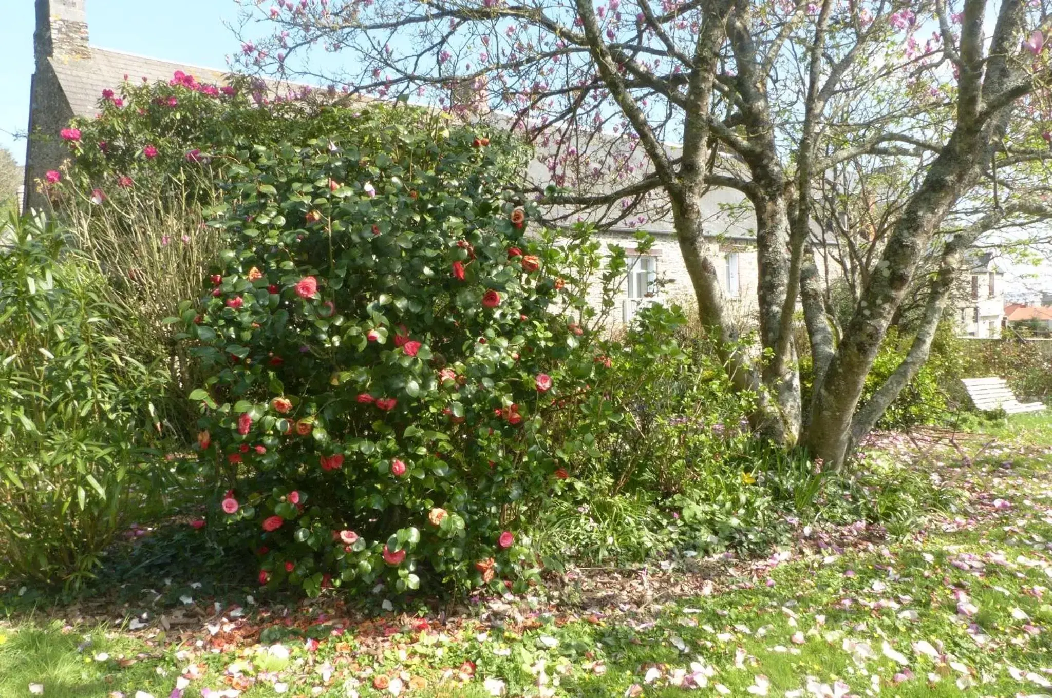
M 1052 418 L 945 436 L 870 445 L 959 491 L 914 532 L 820 517 L 766 559 L 574 570 L 543 596 L 365 616 L 140 564 L 104 603 L 8 611 L 0 695 L 1052 696 Z

